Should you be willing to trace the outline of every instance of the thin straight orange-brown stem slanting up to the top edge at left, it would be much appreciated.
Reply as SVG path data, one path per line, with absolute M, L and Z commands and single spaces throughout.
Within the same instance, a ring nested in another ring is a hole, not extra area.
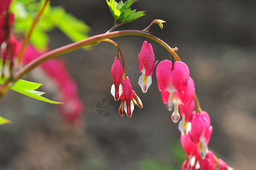
M 20 61 L 22 61 L 22 57 L 23 57 L 24 51 L 25 51 L 25 49 L 26 49 L 26 47 L 28 45 L 28 42 L 30 41 L 30 37 L 32 35 L 33 29 L 35 28 L 36 23 L 39 21 L 40 16 L 43 14 L 43 12 L 45 10 L 45 7 L 47 6 L 47 3 L 49 1 L 50 0 L 45 0 L 43 7 L 41 7 L 41 9 L 38 11 L 35 20 L 33 20 L 33 23 L 32 23 L 32 25 L 30 27 L 30 30 L 28 31 L 28 34 L 27 34 L 27 36 L 25 37 L 25 39 L 24 39 L 24 41 L 22 43 L 22 47 L 20 48 L 20 51 L 19 51 L 19 54 L 18 54 L 18 63 L 20 63 Z

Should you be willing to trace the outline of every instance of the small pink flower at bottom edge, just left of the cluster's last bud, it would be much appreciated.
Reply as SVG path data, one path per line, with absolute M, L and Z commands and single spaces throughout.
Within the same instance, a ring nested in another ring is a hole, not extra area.
M 205 156 L 205 159 L 199 159 L 200 169 L 201 170 L 213 170 L 216 167 L 216 163 L 213 159 L 213 152 L 209 151 Z

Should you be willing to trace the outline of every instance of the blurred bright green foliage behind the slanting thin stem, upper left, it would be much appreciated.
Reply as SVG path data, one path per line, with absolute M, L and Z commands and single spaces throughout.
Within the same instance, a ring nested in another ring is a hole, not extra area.
M 13 1 L 11 11 L 15 14 L 14 31 L 27 34 L 43 2 L 43 0 Z M 33 30 L 30 43 L 38 50 L 47 49 L 49 42 L 47 32 L 52 31 L 54 28 L 60 29 L 74 42 L 89 37 L 87 33 L 90 28 L 82 20 L 67 13 L 61 6 L 51 7 L 48 3 L 39 23 Z

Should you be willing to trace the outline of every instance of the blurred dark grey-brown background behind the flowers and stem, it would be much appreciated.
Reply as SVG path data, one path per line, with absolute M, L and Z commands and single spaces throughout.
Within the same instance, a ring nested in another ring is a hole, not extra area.
M 52 6 L 58 5 L 85 21 L 90 36 L 114 24 L 104 0 L 52 1 Z M 145 10 L 146 16 L 117 30 L 142 30 L 154 19 L 166 21 L 162 30 L 153 25 L 150 32 L 177 46 L 179 57 L 190 67 L 201 107 L 212 121 L 209 149 L 235 169 L 255 169 L 256 2 L 140 0 L 132 8 Z M 58 29 L 49 35 L 51 49 L 72 42 Z M 146 39 L 113 40 L 123 52 L 126 71 L 144 108 L 136 107 L 131 118 L 118 113 L 120 103 L 110 94 L 114 46 L 101 42 L 89 51 L 65 54 L 62 58 L 85 104 L 82 132 L 65 123 L 56 105 L 10 91 L 0 103 L 1 116 L 13 122 L 0 126 L 1 169 L 181 169 L 186 158 L 178 124 L 162 103 L 156 74 L 146 94 L 136 84 L 137 57 Z M 171 58 L 162 46 L 149 42 L 156 59 Z M 97 103 L 106 100 L 112 105 L 111 116 L 100 117 Z

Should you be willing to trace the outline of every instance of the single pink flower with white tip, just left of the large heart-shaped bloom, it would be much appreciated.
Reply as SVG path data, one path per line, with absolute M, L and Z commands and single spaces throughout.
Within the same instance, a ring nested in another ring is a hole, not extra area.
M 157 65 L 157 61 L 154 62 L 154 60 L 152 45 L 144 41 L 139 54 L 140 72 L 142 73 L 139 78 L 139 85 L 144 93 L 148 91 L 149 86 L 152 84 L 152 74 Z

